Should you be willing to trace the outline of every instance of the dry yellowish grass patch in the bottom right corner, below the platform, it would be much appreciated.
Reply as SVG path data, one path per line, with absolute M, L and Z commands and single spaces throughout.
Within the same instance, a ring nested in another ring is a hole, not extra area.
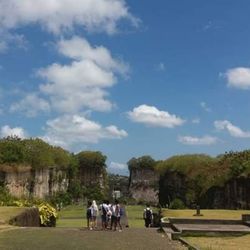
M 238 237 L 185 237 L 201 250 L 249 250 L 250 235 Z

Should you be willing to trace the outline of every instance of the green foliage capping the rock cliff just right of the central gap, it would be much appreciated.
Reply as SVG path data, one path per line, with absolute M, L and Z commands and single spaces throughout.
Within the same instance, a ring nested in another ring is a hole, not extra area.
M 156 161 L 149 155 L 144 155 L 139 158 L 133 157 L 128 161 L 128 168 L 132 169 L 154 169 Z

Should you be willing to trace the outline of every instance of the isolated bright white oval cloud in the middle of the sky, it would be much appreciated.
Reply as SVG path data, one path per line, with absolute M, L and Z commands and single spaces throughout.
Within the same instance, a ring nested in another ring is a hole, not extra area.
M 140 105 L 128 112 L 128 117 L 133 122 L 143 123 L 154 127 L 173 128 L 182 125 L 185 120 L 167 111 L 158 110 L 154 106 Z

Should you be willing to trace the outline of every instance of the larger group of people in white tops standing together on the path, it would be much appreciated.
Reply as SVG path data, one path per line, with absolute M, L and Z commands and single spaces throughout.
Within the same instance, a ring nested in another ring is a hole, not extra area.
M 110 229 L 116 231 L 117 227 L 119 227 L 119 231 L 122 231 L 120 220 L 123 212 L 118 200 L 115 200 L 114 204 L 110 204 L 109 201 L 104 200 L 99 207 L 95 200 L 88 202 L 87 227 L 90 230 L 97 229 L 99 214 L 101 215 L 103 230 Z

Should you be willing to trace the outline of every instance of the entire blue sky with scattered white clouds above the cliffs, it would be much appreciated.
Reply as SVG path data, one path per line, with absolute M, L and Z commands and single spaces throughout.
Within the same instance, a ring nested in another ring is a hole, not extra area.
M 250 2 L 0 0 L 0 136 L 149 154 L 250 146 Z

